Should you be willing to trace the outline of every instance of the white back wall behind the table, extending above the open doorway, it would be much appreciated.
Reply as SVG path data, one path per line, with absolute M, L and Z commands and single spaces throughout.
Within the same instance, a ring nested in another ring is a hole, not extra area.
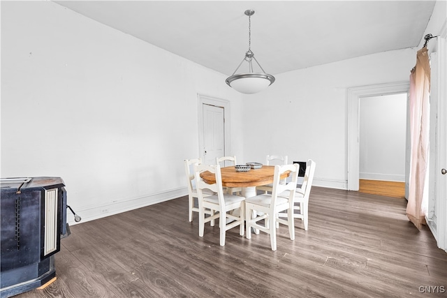
M 244 156 L 266 154 L 316 161 L 314 184 L 346 189 L 347 89 L 403 82 L 417 49 L 371 54 L 282 73 L 260 94 L 244 98 Z

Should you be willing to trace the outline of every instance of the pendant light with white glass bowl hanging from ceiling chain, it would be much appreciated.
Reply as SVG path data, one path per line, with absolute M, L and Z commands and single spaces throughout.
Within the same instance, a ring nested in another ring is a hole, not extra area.
M 261 64 L 259 64 L 258 60 L 254 57 L 254 52 L 251 52 L 251 15 L 254 15 L 254 10 L 245 10 L 245 15 L 249 17 L 249 50 L 245 53 L 244 59 L 242 59 L 239 66 L 237 66 L 233 75 L 226 79 L 226 83 L 228 86 L 232 87 L 236 91 L 244 94 L 255 94 L 259 91 L 263 91 L 267 87 L 269 87 L 274 82 L 274 76 L 265 73 Z M 242 63 L 247 61 L 249 64 L 249 72 L 248 73 L 239 73 L 235 75 L 236 71 L 240 68 Z M 255 61 L 258 64 L 259 68 L 261 68 L 262 73 L 254 73 L 252 62 Z

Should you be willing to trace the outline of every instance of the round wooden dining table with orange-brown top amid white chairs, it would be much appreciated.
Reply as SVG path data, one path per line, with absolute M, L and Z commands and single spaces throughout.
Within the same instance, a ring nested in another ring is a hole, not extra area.
M 207 184 L 216 183 L 214 174 L 205 171 L 200 174 L 203 181 Z M 261 169 L 250 169 L 248 172 L 236 172 L 234 166 L 221 167 L 222 186 L 240 187 L 242 195 L 245 198 L 251 198 L 256 195 L 256 186 L 273 183 L 274 165 L 263 165 Z M 288 172 L 281 175 L 281 179 L 286 179 Z

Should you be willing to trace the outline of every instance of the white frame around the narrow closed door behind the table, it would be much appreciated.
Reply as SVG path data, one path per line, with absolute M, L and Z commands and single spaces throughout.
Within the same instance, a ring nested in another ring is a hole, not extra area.
M 203 143 L 203 105 L 214 105 L 223 108 L 223 135 L 224 156 L 230 152 L 230 101 L 197 94 L 197 121 L 198 121 L 198 156 L 205 160 L 205 144 Z

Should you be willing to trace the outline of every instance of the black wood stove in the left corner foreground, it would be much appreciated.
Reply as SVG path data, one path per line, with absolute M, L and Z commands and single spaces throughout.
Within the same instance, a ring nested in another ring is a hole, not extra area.
M 67 197 L 59 177 L 1 179 L 1 298 L 52 280 L 54 253 L 68 236 Z

